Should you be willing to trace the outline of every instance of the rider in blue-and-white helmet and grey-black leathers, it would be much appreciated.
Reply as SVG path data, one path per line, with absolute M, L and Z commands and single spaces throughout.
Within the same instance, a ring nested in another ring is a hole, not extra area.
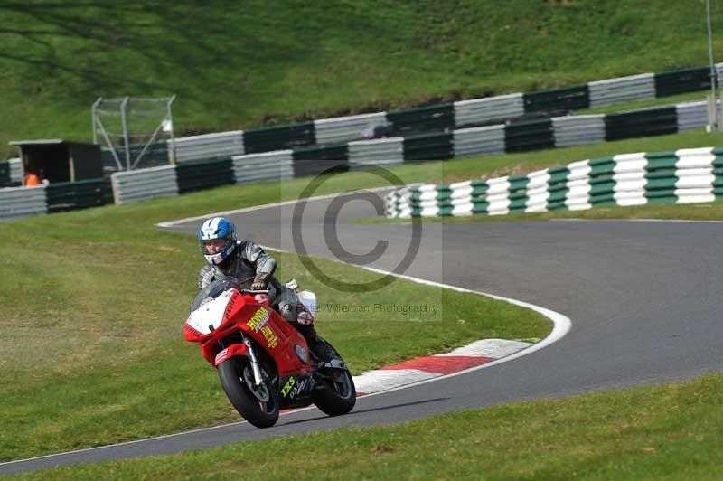
M 273 276 L 276 259 L 269 256 L 254 241 L 239 241 L 236 226 L 224 217 L 211 217 L 198 230 L 203 256 L 208 264 L 199 272 L 198 287 L 205 288 L 214 280 L 232 276 L 243 282 L 253 278 L 251 290 L 276 289 L 270 305 L 304 336 L 309 349 L 324 363 L 333 359 L 333 353 L 319 339 L 314 327 L 314 316 L 296 297 L 293 289 L 286 288 Z

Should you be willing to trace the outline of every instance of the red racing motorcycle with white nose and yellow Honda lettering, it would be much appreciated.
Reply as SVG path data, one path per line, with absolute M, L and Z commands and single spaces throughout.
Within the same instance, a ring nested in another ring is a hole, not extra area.
M 282 409 L 312 403 L 330 416 L 351 411 L 356 390 L 342 356 L 322 362 L 293 325 L 269 306 L 274 288 L 241 288 L 221 278 L 193 300 L 184 327 L 186 341 L 201 344 L 223 390 L 239 414 L 258 428 L 273 426 Z

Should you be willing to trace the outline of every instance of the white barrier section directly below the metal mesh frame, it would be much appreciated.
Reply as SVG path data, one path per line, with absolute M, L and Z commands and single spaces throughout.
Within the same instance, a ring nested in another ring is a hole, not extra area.
M 132 203 L 178 195 L 175 165 L 117 172 L 111 175 L 115 203 Z

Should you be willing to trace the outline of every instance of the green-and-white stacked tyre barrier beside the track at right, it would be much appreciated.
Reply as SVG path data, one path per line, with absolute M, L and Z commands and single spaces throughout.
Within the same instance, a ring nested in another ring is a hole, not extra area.
M 723 147 L 622 154 L 531 174 L 404 187 L 390 218 L 591 209 L 598 204 L 708 203 L 723 197 Z

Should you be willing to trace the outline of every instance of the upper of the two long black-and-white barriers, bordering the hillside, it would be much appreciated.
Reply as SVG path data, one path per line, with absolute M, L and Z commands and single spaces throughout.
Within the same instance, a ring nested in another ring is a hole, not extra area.
M 718 63 L 716 68 L 720 75 L 723 72 L 723 63 Z M 177 162 L 189 162 L 293 150 L 306 146 L 337 145 L 379 137 L 416 137 L 430 132 L 484 127 L 515 119 L 559 117 L 561 112 L 655 99 L 709 88 L 709 67 L 643 73 L 561 89 L 512 93 L 349 117 L 323 118 L 246 131 L 181 137 L 173 141 L 174 158 Z M 170 142 L 169 149 L 172 148 Z M 525 145 L 524 140 L 521 140 L 521 145 Z

